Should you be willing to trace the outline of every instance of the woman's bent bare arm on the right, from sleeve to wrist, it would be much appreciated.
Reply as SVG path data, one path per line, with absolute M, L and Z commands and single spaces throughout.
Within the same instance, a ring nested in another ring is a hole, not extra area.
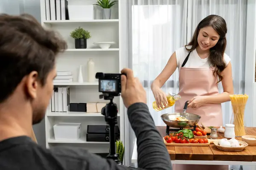
M 230 94 L 234 94 L 232 67 L 229 62 L 227 67 L 222 71 L 223 79 L 221 80 L 223 93 L 214 96 L 207 96 L 207 103 L 224 103 L 230 101 Z

